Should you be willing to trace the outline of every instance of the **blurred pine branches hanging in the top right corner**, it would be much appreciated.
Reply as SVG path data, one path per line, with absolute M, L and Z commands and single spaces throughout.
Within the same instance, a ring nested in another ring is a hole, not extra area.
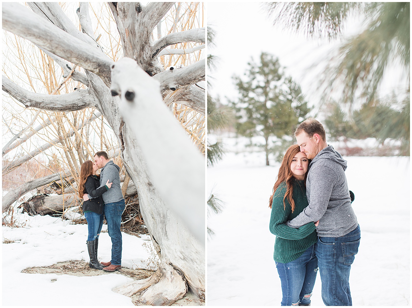
M 367 27 L 342 43 L 322 80 L 327 90 L 342 87 L 345 102 L 353 102 L 359 90 L 371 101 L 392 63 L 403 66 L 409 81 L 409 2 L 268 2 L 264 6 L 274 24 L 330 40 L 343 36 L 349 16 L 360 14 Z

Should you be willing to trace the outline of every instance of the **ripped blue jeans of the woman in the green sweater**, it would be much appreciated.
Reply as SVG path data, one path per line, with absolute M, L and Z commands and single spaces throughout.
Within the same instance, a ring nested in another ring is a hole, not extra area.
M 318 259 L 314 245 L 311 245 L 303 255 L 288 263 L 276 262 L 276 269 L 281 278 L 282 302 L 281 306 L 310 303 L 310 296 L 315 285 L 318 272 Z

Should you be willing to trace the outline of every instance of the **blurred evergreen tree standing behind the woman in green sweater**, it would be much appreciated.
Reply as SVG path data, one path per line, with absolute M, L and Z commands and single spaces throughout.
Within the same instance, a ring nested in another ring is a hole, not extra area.
M 300 86 L 285 76 L 279 59 L 269 53 L 261 53 L 259 63 L 248 63 L 245 77 L 234 76 L 239 89 L 239 99 L 232 102 L 236 110 L 236 131 L 247 137 L 263 136 L 262 146 L 269 165 L 269 153 L 280 158 L 291 139 L 296 126 L 304 120 L 311 108 Z M 275 146 L 269 137 L 276 137 Z

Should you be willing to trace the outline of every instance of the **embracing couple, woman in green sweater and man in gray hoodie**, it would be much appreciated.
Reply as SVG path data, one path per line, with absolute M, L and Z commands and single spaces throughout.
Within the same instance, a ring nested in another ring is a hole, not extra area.
M 295 138 L 269 200 L 281 306 L 310 306 L 318 270 L 325 305 L 352 306 L 349 272 L 361 230 L 351 206 L 346 160 L 328 146 L 314 118 L 297 127 Z

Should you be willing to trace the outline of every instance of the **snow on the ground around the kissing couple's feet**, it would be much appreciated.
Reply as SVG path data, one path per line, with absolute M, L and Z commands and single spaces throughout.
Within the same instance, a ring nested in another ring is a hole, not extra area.
M 2 227 L 2 306 L 134 306 L 130 297 L 112 292 L 131 278 L 110 273 L 101 276 L 21 273 L 33 266 L 50 266 L 70 260 L 89 261 L 87 225 L 70 225 L 68 220 L 17 214 L 23 227 Z M 103 225 L 107 230 L 107 225 Z M 149 236 L 122 233 L 122 266 L 145 269 L 152 246 Z M 144 244 L 145 243 L 145 244 Z M 144 245 L 143 245 L 144 244 Z M 111 259 L 112 243 L 107 232 L 99 236 L 99 261 Z

